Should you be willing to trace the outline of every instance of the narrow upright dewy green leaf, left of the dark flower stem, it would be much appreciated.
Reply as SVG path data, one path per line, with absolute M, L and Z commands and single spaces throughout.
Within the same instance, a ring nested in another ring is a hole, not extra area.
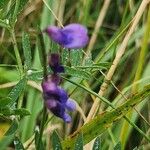
M 22 36 L 22 45 L 23 45 L 23 52 L 25 57 L 25 65 L 27 66 L 27 70 L 31 68 L 31 46 L 30 46 L 30 39 L 27 33 L 23 33 Z

